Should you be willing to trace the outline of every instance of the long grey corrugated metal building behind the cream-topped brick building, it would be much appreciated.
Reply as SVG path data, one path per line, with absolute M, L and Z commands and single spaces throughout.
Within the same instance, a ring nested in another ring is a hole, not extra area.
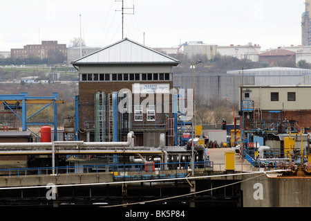
M 217 96 L 231 103 L 238 103 L 238 86 L 242 85 L 242 76 L 244 85 L 311 85 L 310 69 L 272 67 L 227 73 L 194 73 L 196 94 L 202 94 L 207 99 Z M 190 88 L 190 69 L 189 73 L 174 73 L 173 85 Z

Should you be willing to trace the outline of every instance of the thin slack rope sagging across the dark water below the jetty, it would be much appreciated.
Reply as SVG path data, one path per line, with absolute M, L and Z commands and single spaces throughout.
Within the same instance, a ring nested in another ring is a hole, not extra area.
M 133 203 L 129 203 L 129 204 L 117 204 L 117 205 L 101 206 L 101 207 L 131 206 L 131 205 L 135 205 L 135 204 L 143 204 L 143 203 L 149 203 L 149 202 L 159 202 L 159 201 L 171 200 L 171 199 L 175 199 L 175 198 L 179 198 L 179 197 L 187 197 L 189 195 L 194 195 L 194 194 L 198 194 L 198 193 L 204 193 L 204 192 L 207 192 L 207 191 L 214 191 L 214 190 L 216 190 L 218 188 L 224 188 L 226 186 L 232 186 L 232 185 L 235 185 L 235 184 L 239 184 L 239 183 L 245 182 L 245 181 L 250 180 L 250 179 L 255 179 L 255 178 L 258 178 L 258 177 L 262 177 L 264 175 L 265 174 L 262 174 L 262 175 L 258 175 L 256 177 L 251 177 L 251 178 L 248 178 L 248 179 L 243 179 L 241 181 L 238 181 L 238 182 L 235 182 L 235 183 L 232 183 L 232 184 L 227 184 L 227 185 L 224 185 L 224 186 L 218 186 L 218 187 L 210 188 L 210 189 L 204 190 L 204 191 L 198 191 L 198 192 L 194 192 L 194 193 L 187 193 L 187 194 L 184 194 L 184 195 L 176 195 L 176 196 L 173 196 L 173 197 L 166 197 L 166 198 L 157 199 L 157 200 L 148 200 L 148 201 L 143 201 L 143 202 L 133 202 Z

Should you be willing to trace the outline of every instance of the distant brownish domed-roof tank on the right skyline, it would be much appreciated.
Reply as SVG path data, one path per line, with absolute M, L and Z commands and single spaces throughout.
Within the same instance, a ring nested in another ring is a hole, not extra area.
M 287 62 L 294 62 L 296 64 L 296 53 L 285 49 L 275 49 L 261 53 L 259 56 L 259 62 L 267 64 L 279 64 L 283 66 Z

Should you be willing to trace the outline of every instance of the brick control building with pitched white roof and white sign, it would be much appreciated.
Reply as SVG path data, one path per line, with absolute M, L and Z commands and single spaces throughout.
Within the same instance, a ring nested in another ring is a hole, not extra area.
M 79 140 L 173 145 L 173 66 L 180 62 L 130 39 L 71 62 L 79 71 Z M 128 100 L 126 100 L 128 99 Z

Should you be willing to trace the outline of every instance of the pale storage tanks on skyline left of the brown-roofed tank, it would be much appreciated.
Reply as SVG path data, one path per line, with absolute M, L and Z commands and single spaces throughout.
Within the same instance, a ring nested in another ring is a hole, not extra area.
M 247 59 L 252 62 L 258 62 L 258 55 L 261 52 L 259 44 L 249 42 L 246 45 L 217 46 L 217 53 L 223 56 L 232 56 L 240 60 Z

